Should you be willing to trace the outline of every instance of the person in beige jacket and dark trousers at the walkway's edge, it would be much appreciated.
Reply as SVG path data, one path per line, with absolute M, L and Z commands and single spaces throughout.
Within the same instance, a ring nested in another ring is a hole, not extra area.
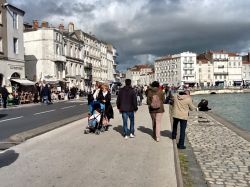
M 177 126 L 178 123 L 180 122 L 180 138 L 177 147 L 178 149 L 185 149 L 186 147 L 184 143 L 185 143 L 188 112 L 189 110 L 195 110 L 197 108 L 192 103 L 192 98 L 190 96 L 189 90 L 185 90 L 184 92 L 172 95 L 172 99 L 174 102 L 172 108 L 172 116 L 173 116 L 172 139 L 176 139 Z

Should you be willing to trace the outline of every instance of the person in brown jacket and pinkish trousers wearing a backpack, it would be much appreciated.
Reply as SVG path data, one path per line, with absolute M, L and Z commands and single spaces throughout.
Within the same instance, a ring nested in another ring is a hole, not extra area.
M 151 88 L 148 89 L 147 93 L 147 104 L 152 119 L 153 137 L 157 142 L 160 141 L 161 119 L 164 113 L 164 99 L 164 93 L 160 88 L 159 82 L 152 82 Z

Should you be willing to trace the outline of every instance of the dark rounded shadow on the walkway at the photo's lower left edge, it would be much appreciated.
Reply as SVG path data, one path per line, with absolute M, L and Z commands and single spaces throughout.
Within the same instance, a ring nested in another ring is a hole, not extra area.
M 4 153 L 0 153 L 0 168 L 9 166 L 17 160 L 19 153 L 16 153 L 14 150 L 8 150 Z

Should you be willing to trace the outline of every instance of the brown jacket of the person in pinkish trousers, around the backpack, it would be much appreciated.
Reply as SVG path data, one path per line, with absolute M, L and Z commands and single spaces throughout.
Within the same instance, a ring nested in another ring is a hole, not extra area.
M 153 95 L 158 95 L 158 97 L 161 100 L 161 106 L 160 106 L 159 109 L 152 109 L 151 106 L 150 106 L 151 103 L 152 103 Z M 163 91 L 160 88 L 152 87 L 152 88 L 148 89 L 147 104 L 148 104 L 149 113 L 163 113 L 164 112 L 163 101 L 164 101 L 164 94 L 163 94 Z

